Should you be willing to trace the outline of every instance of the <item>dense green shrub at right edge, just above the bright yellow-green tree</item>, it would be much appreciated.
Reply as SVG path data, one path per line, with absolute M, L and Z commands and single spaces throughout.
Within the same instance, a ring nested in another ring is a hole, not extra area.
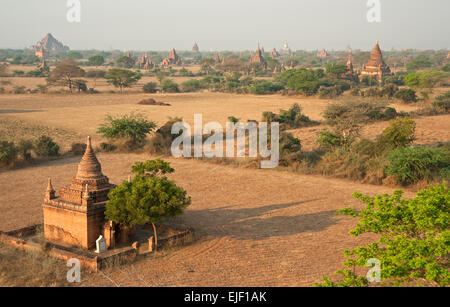
M 402 184 L 433 180 L 450 169 L 450 151 L 446 148 L 404 147 L 391 151 L 387 159 L 387 175 L 393 175 Z

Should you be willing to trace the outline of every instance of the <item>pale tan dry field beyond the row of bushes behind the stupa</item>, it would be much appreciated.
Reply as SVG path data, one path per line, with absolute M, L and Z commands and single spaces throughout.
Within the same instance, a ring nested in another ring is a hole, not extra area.
M 152 97 L 171 106 L 143 106 L 137 103 Z M 0 119 L 14 118 L 56 127 L 78 134 L 95 136 L 106 114 L 122 115 L 129 112 L 145 113 L 147 118 L 164 124 L 169 117 L 182 117 L 193 124 L 194 114 L 203 115 L 203 122 L 224 124 L 229 116 L 242 121 L 261 120 L 263 111 L 278 112 L 299 103 L 305 114 L 320 120 L 327 100 L 299 99 L 281 95 L 252 96 L 222 93 L 186 94 L 101 94 L 101 95 L 0 95 Z M 70 120 L 68 120 L 70 119 Z M 99 140 L 99 137 L 96 137 Z

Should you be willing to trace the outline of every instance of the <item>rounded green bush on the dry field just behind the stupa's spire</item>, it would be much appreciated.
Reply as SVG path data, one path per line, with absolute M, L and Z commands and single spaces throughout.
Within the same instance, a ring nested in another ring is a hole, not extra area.
M 97 132 L 108 139 L 125 139 L 133 145 L 139 145 L 155 128 L 156 124 L 146 120 L 144 115 L 131 113 L 120 118 L 107 115 L 105 123 L 100 125 Z

